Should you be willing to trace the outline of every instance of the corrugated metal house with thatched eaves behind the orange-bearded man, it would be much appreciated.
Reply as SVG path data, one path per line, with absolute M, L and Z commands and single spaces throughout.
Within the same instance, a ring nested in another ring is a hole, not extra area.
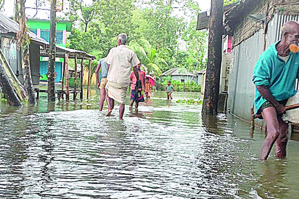
M 227 76 L 227 108 L 244 120 L 250 121 L 255 98 L 255 64 L 265 49 L 282 39 L 281 28 L 289 20 L 299 21 L 298 0 L 240 0 L 224 10 L 223 38 L 232 37 L 230 65 L 221 72 Z M 256 123 L 262 125 L 261 120 Z

